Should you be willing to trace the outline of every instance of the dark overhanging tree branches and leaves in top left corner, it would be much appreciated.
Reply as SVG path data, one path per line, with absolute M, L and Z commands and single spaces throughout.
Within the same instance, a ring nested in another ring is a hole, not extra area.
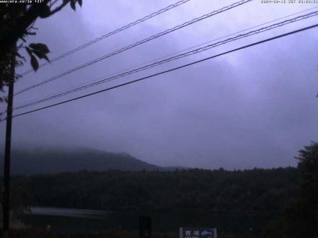
M 70 3 L 75 10 L 76 3 L 82 5 L 82 0 L 41 0 L 41 1 L 1 1 L 0 2 L 0 92 L 8 86 L 10 80 L 17 80 L 21 75 L 12 75 L 12 69 L 22 66 L 26 61 L 21 49 L 30 56 L 34 71 L 39 68 L 38 59 L 49 61 L 48 47 L 42 43 L 31 43 L 24 46 L 26 38 L 35 35 L 37 28 L 33 27 L 37 18 L 48 18 Z M 57 6 L 56 6 L 57 4 Z M 0 102 L 6 100 L 0 96 Z M 0 114 L 1 116 L 1 114 Z

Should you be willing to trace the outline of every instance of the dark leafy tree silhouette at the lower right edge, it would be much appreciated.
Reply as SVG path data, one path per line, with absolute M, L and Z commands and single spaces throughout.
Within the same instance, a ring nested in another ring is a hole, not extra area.
M 291 202 L 282 215 L 263 231 L 268 238 L 317 238 L 318 237 L 318 142 L 312 142 L 299 151 L 300 178 Z

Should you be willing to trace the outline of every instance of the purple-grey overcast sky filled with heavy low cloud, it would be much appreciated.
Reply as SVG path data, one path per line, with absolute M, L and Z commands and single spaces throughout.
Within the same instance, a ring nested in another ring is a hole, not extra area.
M 83 0 L 82 8 L 77 5 L 76 12 L 67 6 L 48 19 L 38 19 L 37 35 L 31 36 L 28 43 L 47 44 L 52 52 L 49 58 L 53 59 L 174 2 Z M 15 84 L 15 92 L 234 2 L 191 0 L 25 75 Z M 17 95 L 14 105 L 317 6 L 253 0 Z M 310 11 L 315 10 L 318 8 Z M 318 16 L 291 23 L 15 114 L 317 23 Z M 16 117 L 12 149 L 86 146 L 127 152 L 160 166 L 207 169 L 296 166 L 293 156 L 298 155 L 298 150 L 310 141 L 318 141 L 317 32 L 318 28 L 310 29 Z M 28 62 L 18 72 L 29 68 Z M 1 111 L 4 108 L 1 104 Z M 0 128 L 4 147 L 5 123 L 0 122 Z

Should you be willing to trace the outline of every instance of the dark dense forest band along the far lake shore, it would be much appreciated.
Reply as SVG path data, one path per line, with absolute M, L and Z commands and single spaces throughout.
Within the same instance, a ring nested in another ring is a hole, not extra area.
M 297 169 L 289 167 L 244 171 L 79 171 L 16 175 L 11 181 L 41 206 L 278 213 L 295 195 L 297 177 Z

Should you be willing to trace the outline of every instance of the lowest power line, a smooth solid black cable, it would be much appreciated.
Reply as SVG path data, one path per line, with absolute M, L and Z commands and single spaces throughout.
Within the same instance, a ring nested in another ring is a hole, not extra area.
M 128 84 L 131 84 L 131 83 L 135 83 L 135 82 L 147 79 L 147 78 L 158 76 L 158 75 L 163 74 L 163 73 L 167 73 L 167 72 L 170 72 L 170 71 L 174 71 L 176 69 L 184 68 L 184 67 L 190 66 L 192 64 L 196 64 L 196 63 L 199 63 L 199 62 L 202 62 L 202 61 L 205 61 L 205 60 L 210 60 L 210 59 L 213 59 L 213 58 L 216 58 L 216 57 L 219 57 L 219 56 L 223 56 L 223 55 L 235 52 L 235 51 L 239 51 L 239 50 L 242 50 L 242 49 L 245 49 L 245 48 L 248 48 L 248 47 L 251 47 L 251 46 L 255 46 L 255 45 L 258 45 L 258 44 L 261 44 L 261 43 L 265 43 L 265 42 L 268 42 L 268 41 L 271 41 L 271 40 L 275 40 L 275 39 L 278 39 L 278 38 L 281 38 L 281 37 L 292 35 L 292 34 L 295 34 L 295 33 L 301 32 L 301 31 L 305 31 L 305 30 L 308 30 L 308 29 L 311 29 L 311 28 L 314 28 L 314 27 L 318 27 L 318 24 L 315 24 L 315 25 L 312 25 L 312 26 L 308 26 L 308 27 L 305 27 L 305 28 L 301 28 L 301 29 L 298 29 L 298 30 L 295 30 L 295 31 L 291 31 L 291 32 L 288 32 L 288 33 L 285 33 L 285 34 L 282 34 L 282 35 L 275 36 L 275 37 L 271 37 L 271 38 L 268 38 L 268 39 L 265 39 L 265 40 L 262 40 L 262 41 L 258 41 L 258 42 L 255 42 L 255 43 L 252 43 L 252 44 L 249 44 L 249 45 L 245 45 L 245 46 L 236 48 L 236 49 L 231 50 L 231 51 L 227 51 L 227 52 L 224 52 L 224 53 L 221 53 L 221 54 L 218 54 L 218 55 L 215 55 L 215 56 L 211 56 L 211 57 L 208 57 L 208 58 L 205 58 L 205 59 L 202 59 L 202 60 L 197 60 L 197 61 L 194 61 L 194 62 L 191 62 L 191 63 L 187 63 L 187 64 L 184 64 L 184 65 L 175 67 L 175 68 L 171 68 L 171 69 L 168 69 L 168 70 L 165 70 L 165 71 L 161 71 L 159 73 L 155 73 L 155 74 L 152 74 L 152 75 L 149 75 L 149 76 L 146 76 L 146 77 L 143 77 L 143 78 L 139 78 L 139 79 L 127 82 L 127 83 L 119 84 L 119 85 L 116 85 L 116 86 L 113 86 L 113 87 L 110 87 L 110 88 L 106 88 L 106 89 L 103 89 L 103 90 L 100 90 L 100 91 L 97 91 L 97 92 L 89 93 L 89 94 L 86 94 L 86 95 L 83 95 L 83 96 L 80 96 L 80 97 L 77 97 L 77 98 L 73 98 L 73 99 L 66 100 L 66 101 L 63 101 L 63 102 L 60 102 L 60 103 L 52 104 L 52 105 L 49 105 L 49 106 L 46 106 L 46 107 L 43 107 L 43 108 L 39 108 L 39 109 L 35 109 L 35 110 L 32 110 L 32 111 L 28 111 L 28 112 L 25 112 L 25 113 L 17 114 L 17 115 L 14 115 L 12 117 L 13 118 L 14 117 L 19 117 L 19 116 L 26 115 L 26 114 L 29 114 L 29 113 L 33 113 L 33 112 L 37 112 L 37 111 L 44 110 L 44 109 L 47 109 L 47 108 L 51 108 L 51 107 L 54 107 L 54 106 L 57 106 L 57 105 L 61 105 L 61 104 L 64 104 L 64 103 L 72 102 L 72 101 L 75 101 L 75 100 L 78 100 L 78 99 L 81 99 L 81 98 L 85 98 L 85 97 L 88 97 L 88 96 L 91 96 L 91 95 L 94 95 L 94 94 L 98 94 L 98 93 L 102 93 L 102 92 L 105 92 L 105 91 L 109 91 L 111 89 L 119 88 L 119 87 L 122 87 L 122 86 L 125 86 L 125 85 L 128 85 Z M 5 119 L 2 119 L 2 120 L 5 120 Z M 2 120 L 0 120 L 0 121 L 2 121 Z

